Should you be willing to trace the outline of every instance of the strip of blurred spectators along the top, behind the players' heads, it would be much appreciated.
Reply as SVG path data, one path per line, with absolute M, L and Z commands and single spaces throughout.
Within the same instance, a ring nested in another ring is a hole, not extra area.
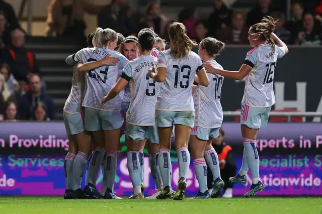
M 84 14 L 97 15 L 98 27 L 111 28 L 116 32 L 136 35 L 140 29 L 152 27 L 162 38 L 168 40 L 168 26 L 175 20 L 163 14 L 159 1 L 150 1 L 145 13 L 134 11 L 128 0 L 112 0 L 107 6 L 98 6 L 90 0 L 52 0 L 48 14 L 48 36 L 77 37 L 84 35 Z M 77 4 L 76 4 L 77 3 Z M 273 8 L 271 0 L 259 0 L 258 4 L 244 14 L 229 9 L 223 0 L 214 0 L 214 10 L 209 17 L 198 16 L 197 7 L 184 8 L 176 21 L 184 23 L 188 36 L 197 42 L 207 36 L 215 37 L 227 44 L 249 44 L 248 29 L 264 16 L 277 21 L 276 34 L 286 44 L 321 45 L 322 1 L 302 0 L 294 2 L 292 19 Z

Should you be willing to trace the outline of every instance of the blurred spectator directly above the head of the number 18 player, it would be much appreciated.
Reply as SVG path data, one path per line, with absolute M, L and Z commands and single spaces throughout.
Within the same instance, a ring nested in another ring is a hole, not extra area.
M 258 3 L 247 15 L 246 24 L 249 27 L 261 22 L 263 17 L 268 16 L 272 12 L 271 0 L 259 0 Z

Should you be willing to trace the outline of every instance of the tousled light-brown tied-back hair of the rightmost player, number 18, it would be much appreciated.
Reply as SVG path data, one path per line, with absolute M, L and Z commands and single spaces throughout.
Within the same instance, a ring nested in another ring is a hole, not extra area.
M 268 43 L 272 46 L 273 51 L 275 51 L 275 42 L 271 38 L 272 33 L 275 31 L 275 22 L 272 17 L 266 16 L 262 19 L 260 23 L 257 23 L 252 26 L 251 35 L 258 36 L 258 39 L 263 41 L 268 41 Z

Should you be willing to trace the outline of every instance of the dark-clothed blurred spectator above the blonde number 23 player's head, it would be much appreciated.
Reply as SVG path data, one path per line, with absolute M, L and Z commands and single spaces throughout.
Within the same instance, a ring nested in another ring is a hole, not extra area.
M 111 28 L 124 36 L 138 33 L 137 19 L 127 2 L 112 0 L 110 5 L 104 6 L 97 17 L 99 27 Z

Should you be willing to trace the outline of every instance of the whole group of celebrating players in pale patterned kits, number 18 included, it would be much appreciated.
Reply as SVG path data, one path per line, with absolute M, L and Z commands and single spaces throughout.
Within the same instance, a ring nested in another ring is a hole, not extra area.
M 133 184 L 130 198 L 144 198 L 143 149 L 147 148 L 157 188 L 147 198 L 182 200 L 190 165 L 189 141 L 199 183 L 199 192 L 193 198 L 219 196 L 224 182 L 211 141 L 218 136 L 223 121 L 220 98 L 224 77 L 246 77 L 240 115 L 243 164 L 229 180 L 246 184 L 250 170 L 252 186 L 245 196 L 263 190 L 256 136 L 261 127 L 267 126 L 275 103 L 273 78 L 277 58 L 288 52 L 274 30 L 271 17 L 250 28 L 249 40 L 254 49 L 247 53 L 238 71 L 225 71 L 216 62 L 215 57 L 225 45 L 214 38 L 203 39 L 198 54 L 192 52 L 198 44 L 189 39 L 182 23 L 173 23 L 169 28 L 169 50 L 164 50 L 164 40 L 151 29 L 142 29 L 137 37 L 125 39 L 112 29 L 98 28 L 89 35 L 88 48 L 66 58 L 74 69 L 71 92 L 64 106 L 69 140 L 64 198 L 120 199 L 113 186 L 124 132 Z M 174 135 L 180 177 L 176 191 L 171 184 L 170 157 Z M 206 163 L 214 178 L 211 193 L 207 189 Z M 81 181 L 86 167 L 83 190 Z M 96 179 L 100 168 L 103 181 L 99 192 Z

